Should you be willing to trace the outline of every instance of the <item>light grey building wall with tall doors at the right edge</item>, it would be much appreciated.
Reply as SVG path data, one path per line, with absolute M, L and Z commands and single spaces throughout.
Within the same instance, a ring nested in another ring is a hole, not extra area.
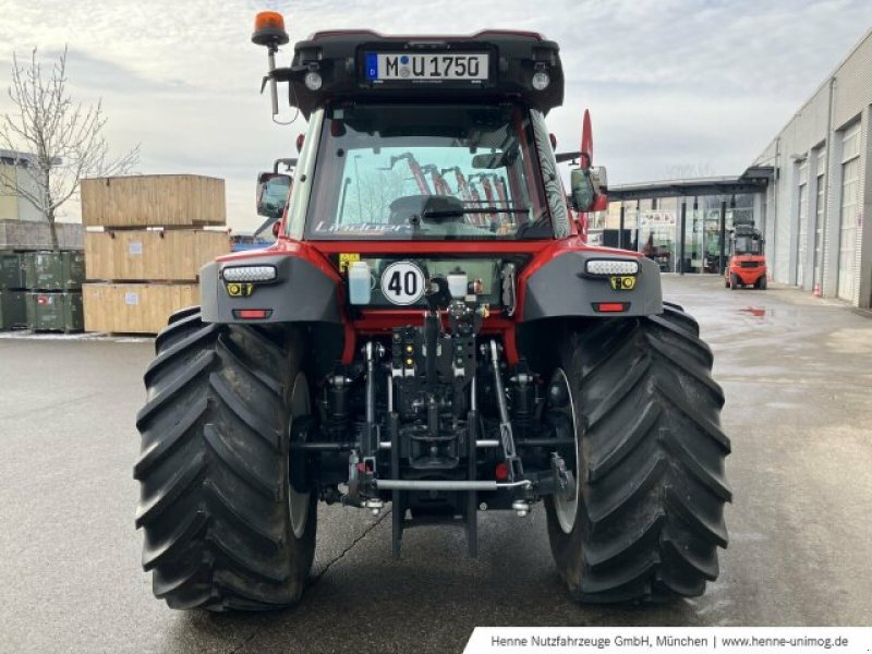
M 764 196 L 775 281 L 872 306 L 872 29 L 773 138 Z

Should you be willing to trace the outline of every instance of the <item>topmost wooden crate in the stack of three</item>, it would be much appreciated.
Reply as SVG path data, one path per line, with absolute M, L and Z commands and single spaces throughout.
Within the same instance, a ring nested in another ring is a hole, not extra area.
M 225 181 L 196 174 L 143 174 L 82 180 L 86 227 L 225 225 Z

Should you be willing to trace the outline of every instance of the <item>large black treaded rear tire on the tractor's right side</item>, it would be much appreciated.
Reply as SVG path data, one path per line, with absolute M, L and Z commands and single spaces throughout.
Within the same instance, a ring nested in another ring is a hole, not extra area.
M 580 497 L 573 521 L 553 497 L 545 507 L 552 553 L 576 600 L 697 596 L 717 578 L 730 446 L 698 329 L 667 304 L 658 316 L 597 322 L 564 338 Z

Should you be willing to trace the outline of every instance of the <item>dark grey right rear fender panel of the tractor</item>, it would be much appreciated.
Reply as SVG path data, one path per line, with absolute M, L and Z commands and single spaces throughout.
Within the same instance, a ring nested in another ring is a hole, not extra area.
M 635 288 L 615 291 L 608 277 L 585 272 L 589 259 L 623 259 L 639 263 Z M 622 313 L 597 313 L 600 302 L 629 302 Z M 523 320 L 568 316 L 627 317 L 663 313 L 661 271 L 649 258 L 610 252 L 569 252 L 536 270 L 526 281 Z

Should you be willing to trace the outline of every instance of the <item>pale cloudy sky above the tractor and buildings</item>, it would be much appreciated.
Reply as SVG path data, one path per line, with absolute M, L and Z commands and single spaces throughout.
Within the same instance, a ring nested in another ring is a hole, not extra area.
M 228 222 L 251 230 L 257 171 L 305 129 L 272 124 L 258 95 L 266 51 L 250 38 L 265 9 L 284 13 L 291 43 L 335 27 L 543 33 L 567 77 L 548 117 L 558 149 L 577 148 L 590 108 L 613 184 L 742 172 L 872 25 L 868 0 L 0 0 L 0 80 L 13 50 L 68 45 L 74 99 L 102 97 L 111 147 L 142 144 L 137 172 L 225 178 Z

